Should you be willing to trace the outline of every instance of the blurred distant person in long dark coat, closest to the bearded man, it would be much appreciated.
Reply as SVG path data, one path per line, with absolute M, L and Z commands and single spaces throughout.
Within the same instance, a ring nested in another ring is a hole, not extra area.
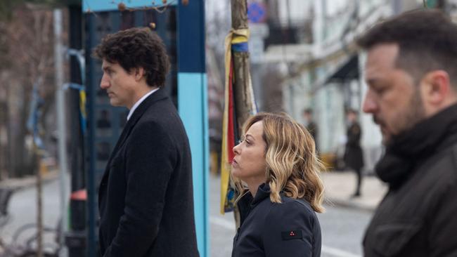
M 355 171 L 357 175 L 356 190 L 353 197 L 361 195 L 362 185 L 362 168 L 363 168 L 363 151 L 360 146 L 360 138 L 362 130 L 359 122 L 357 122 L 357 112 L 355 110 L 347 110 L 347 142 L 345 147 L 345 165 Z

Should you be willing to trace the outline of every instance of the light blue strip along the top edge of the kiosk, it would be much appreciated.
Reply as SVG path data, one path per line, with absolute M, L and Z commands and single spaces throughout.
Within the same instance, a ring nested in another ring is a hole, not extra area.
M 167 5 L 176 6 L 177 1 L 180 0 L 169 0 Z M 101 0 L 83 0 L 82 9 L 84 13 L 88 11 L 99 12 L 99 11 L 116 11 L 117 5 L 124 3 L 128 8 L 142 8 L 142 7 L 153 7 L 163 6 L 162 0 L 151 1 L 151 0 L 134 0 L 134 1 L 101 1 Z

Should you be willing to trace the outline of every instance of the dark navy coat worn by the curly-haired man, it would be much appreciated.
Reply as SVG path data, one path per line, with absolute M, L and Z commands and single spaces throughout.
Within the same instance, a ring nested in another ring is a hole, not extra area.
M 191 150 L 163 90 L 131 115 L 98 190 L 104 257 L 198 256 Z

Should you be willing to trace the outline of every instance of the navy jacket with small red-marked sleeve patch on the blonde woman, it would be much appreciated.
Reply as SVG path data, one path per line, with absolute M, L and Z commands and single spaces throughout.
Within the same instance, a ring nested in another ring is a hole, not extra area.
M 281 196 L 276 204 L 269 195 L 269 186 L 262 184 L 255 199 L 248 192 L 238 202 L 241 225 L 232 256 L 321 256 L 321 226 L 309 203 Z

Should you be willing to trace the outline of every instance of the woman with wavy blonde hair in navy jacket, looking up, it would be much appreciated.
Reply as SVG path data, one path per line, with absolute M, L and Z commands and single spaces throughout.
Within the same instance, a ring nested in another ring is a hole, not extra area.
M 232 256 L 321 256 L 322 169 L 307 129 L 285 114 L 259 113 L 233 147 L 240 228 Z

